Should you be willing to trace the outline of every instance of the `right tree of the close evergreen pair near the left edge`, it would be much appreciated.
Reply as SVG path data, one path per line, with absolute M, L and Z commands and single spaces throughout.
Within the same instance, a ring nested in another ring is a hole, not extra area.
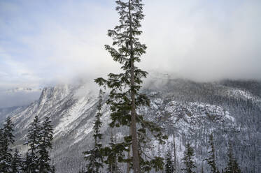
M 45 117 L 40 131 L 40 140 L 38 144 L 38 164 L 40 173 L 48 173 L 52 171 L 52 165 L 50 164 L 49 149 L 52 149 L 52 135 L 53 128 L 52 122 L 48 116 Z

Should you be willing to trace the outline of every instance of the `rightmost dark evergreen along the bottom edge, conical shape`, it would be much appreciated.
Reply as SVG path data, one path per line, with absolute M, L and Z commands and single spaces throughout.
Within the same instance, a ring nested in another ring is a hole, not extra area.
M 233 156 L 231 142 L 229 144 L 229 148 L 227 151 L 227 157 L 228 157 L 228 162 L 227 162 L 227 167 L 225 167 L 225 173 L 241 173 L 237 160 Z

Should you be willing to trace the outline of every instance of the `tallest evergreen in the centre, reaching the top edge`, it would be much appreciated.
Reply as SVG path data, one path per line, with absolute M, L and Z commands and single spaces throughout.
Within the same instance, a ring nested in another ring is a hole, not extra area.
M 163 158 L 155 157 L 145 160 L 142 147 L 148 144 L 147 130 L 150 130 L 157 140 L 163 142 L 160 128 L 151 121 L 146 121 L 137 109 L 141 106 L 149 106 L 148 98 L 140 93 L 142 78 L 148 73 L 141 70 L 135 63 L 141 61 L 141 55 L 146 53 L 146 45 L 139 42 L 142 31 L 143 4 L 141 0 L 116 1 L 116 10 L 120 15 L 120 24 L 113 30 L 108 30 L 108 36 L 113 38 L 113 46 L 105 45 L 105 49 L 111 54 L 114 61 L 120 63 L 122 73 L 108 74 L 108 79 L 97 78 L 97 84 L 111 89 L 107 104 L 111 106 L 110 126 L 129 126 L 129 136 L 125 142 L 118 144 L 118 156 L 128 152 L 132 146 L 132 165 L 134 173 L 143 170 L 148 171 L 152 167 L 155 170 L 163 168 Z M 117 49 L 118 48 L 118 49 Z M 138 129 L 139 128 L 139 129 Z M 120 158 L 121 162 L 129 162 L 130 159 Z

